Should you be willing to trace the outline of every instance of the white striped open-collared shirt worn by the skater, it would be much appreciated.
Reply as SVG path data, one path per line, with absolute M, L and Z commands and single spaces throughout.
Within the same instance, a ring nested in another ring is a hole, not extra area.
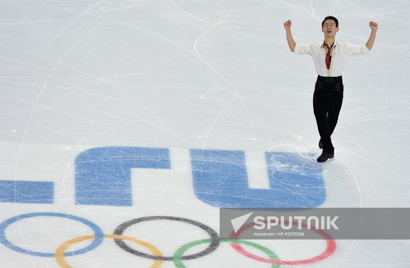
M 346 42 L 335 41 L 328 70 L 325 61 L 327 48 L 323 45 L 324 41 L 323 39 L 321 43 L 295 46 L 295 53 L 312 56 L 316 72 L 320 76 L 340 76 L 346 67 L 349 57 L 370 52 L 366 45 L 352 45 Z

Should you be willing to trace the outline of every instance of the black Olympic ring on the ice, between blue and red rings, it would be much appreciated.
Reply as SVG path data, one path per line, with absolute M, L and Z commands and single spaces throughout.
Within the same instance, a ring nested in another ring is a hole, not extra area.
M 203 229 L 205 232 L 207 232 L 209 234 L 209 236 L 211 237 L 211 244 L 203 251 L 198 252 L 196 254 L 192 254 L 192 255 L 187 255 L 187 256 L 183 256 L 182 259 L 183 260 L 191 260 L 191 259 L 197 259 L 200 257 L 203 257 L 207 254 L 210 254 L 212 252 L 214 252 L 216 250 L 216 248 L 219 247 L 219 235 L 214 231 L 214 229 L 212 229 L 211 227 L 203 224 L 203 223 L 199 223 L 195 220 L 189 220 L 186 218 L 180 218 L 180 217 L 172 217 L 172 216 L 150 216 L 150 217 L 143 217 L 143 218 L 137 218 L 137 219 L 133 219 L 130 220 L 128 222 L 122 223 L 121 225 L 119 225 L 115 231 L 114 234 L 118 234 L 118 235 L 122 235 L 123 232 L 125 231 L 125 229 L 127 229 L 127 227 L 130 227 L 131 225 L 134 225 L 136 223 L 141 223 L 144 221 L 148 221 L 148 220 L 175 220 L 175 221 L 181 221 L 183 223 L 189 223 L 195 226 L 200 227 L 201 229 Z M 172 261 L 173 257 L 160 257 L 160 256 L 154 256 L 154 255 L 150 255 L 150 254 L 145 254 L 142 252 L 139 252 L 137 250 L 134 250 L 132 248 L 130 248 L 128 245 L 125 244 L 125 242 L 122 239 L 114 239 L 115 243 L 122 248 L 123 250 L 125 250 L 126 252 L 129 252 L 131 254 L 140 256 L 140 257 L 144 257 L 146 259 L 153 259 L 153 260 L 162 260 L 162 261 Z

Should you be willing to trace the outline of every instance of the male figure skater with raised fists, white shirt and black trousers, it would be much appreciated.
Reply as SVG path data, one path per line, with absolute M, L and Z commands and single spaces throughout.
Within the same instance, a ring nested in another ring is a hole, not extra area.
M 319 43 L 296 45 L 293 40 L 290 20 L 283 23 L 286 29 L 286 38 L 292 52 L 310 55 L 313 58 L 317 72 L 317 81 L 313 93 L 313 111 L 319 130 L 319 148 L 323 148 L 318 162 L 335 156 L 330 135 L 335 130 L 337 118 L 343 101 L 342 73 L 350 56 L 365 54 L 371 50 L 376 38 L 377 23 L 371 21 L 371 34 L 366 45 L 352 45 L 346 42 L 335 41 L 339 31 L 339 22 L 333 16 L 327 16 L 322 21 L 322 32 L 325 39 Z

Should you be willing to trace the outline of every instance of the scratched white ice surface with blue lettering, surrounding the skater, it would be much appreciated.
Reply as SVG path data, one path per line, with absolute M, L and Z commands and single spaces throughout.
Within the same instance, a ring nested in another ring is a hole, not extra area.
M 379 26 L 319 166 L 317 75 L 283 23 L 312 43 L 326 15 L 337 41 Z M 224 241 L 175 254 L 219 207 L 409 207 L 409 1 L 2 1 L 0 37 L 2 268 L 410 267 L 407 240 L 242 245 L 282 265 Z

